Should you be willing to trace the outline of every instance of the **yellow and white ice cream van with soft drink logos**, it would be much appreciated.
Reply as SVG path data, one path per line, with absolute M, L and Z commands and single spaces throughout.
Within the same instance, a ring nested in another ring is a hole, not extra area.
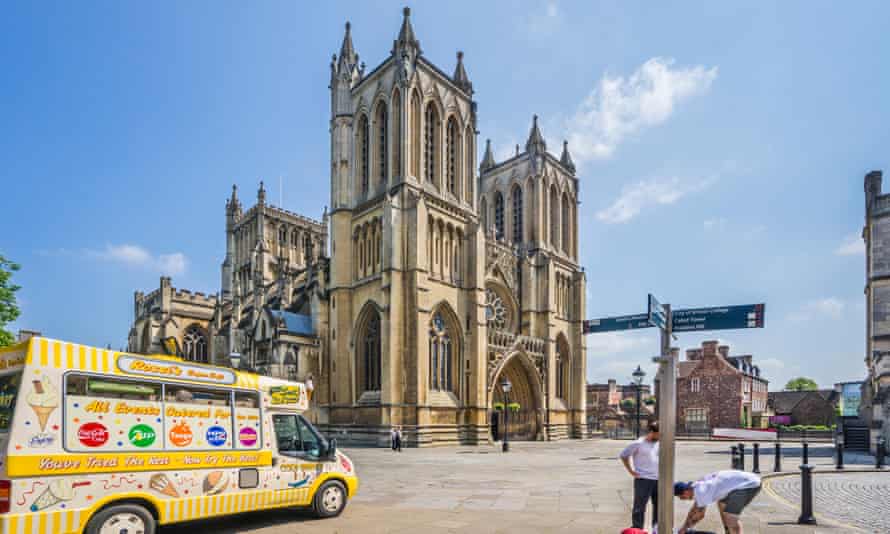
M 0 349 L 0 534 L 152 534 L 305 507 L 338 515 L 350 459 L 304 384 L 45 338 Z

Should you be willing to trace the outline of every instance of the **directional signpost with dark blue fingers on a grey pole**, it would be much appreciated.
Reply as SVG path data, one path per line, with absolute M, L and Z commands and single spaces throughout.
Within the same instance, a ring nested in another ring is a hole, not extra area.
M 736 328 L 763 328 L 766 304 L 716 306 L 671 310 L 651 293 L 646 303 L 647 312 L 619 317 L 604 317 L 584 321 L 584 333 L 614 332 L 657 327 L 661 330 L 661 355 L 658 362 L 658 426 L 661 442 L 658 454 L 658 493 L 665 504 L 658 508 L 659 531 L 674 531 L 674 430 L 676 428 L 677 361 L 671 356 L 671 336 L 674 332 L 705 332 Z

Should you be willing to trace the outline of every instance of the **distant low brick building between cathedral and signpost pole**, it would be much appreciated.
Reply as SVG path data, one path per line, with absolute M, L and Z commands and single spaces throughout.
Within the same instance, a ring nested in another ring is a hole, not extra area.
M 640 386 L 640 399 L 652 396 L 649 384 Z M 612 430 L 614 428 L 631 428 L 636 421 L 636 408 L 630 410 L 622 406 L 622 401 L 631 399 L 636 402 L 637 386 L 635 384 L 618 384 L 610 378 L 605 384 L 587 384 L 587 427 L 591 430 Z M 655 406 L 645 403 L 640 407 L 641 424 L 654 418 Z

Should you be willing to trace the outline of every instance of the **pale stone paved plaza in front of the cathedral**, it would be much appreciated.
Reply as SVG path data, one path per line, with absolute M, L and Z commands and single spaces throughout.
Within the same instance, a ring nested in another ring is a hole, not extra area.
M 409 449 L 401 454 L 350 449 L 362 486 L 339 518 L 321 521 L 306 512 L 281 510 L 165 527 L 160 534 L 186 534 L 196 527 L 218 534 L 616 533 L 629 526 L 633 497 L 631 481 L 617 459 L 627 443 L 513 443 L 508 454 L 495 447 Z M 678 478 L 727 469 L 728 449 L 726 443 L 678 443 Z M 764 474 L 773 466 L 772 449 L 766 450 Z M 784 453 L 783 467 L 796 469 L 799 448 L 786 446 Z M 877 523 L 886 521 L 877 510 L 890 505 L 890 472 L 835 475 L 830 454 L 827 445 L 811 448 L 811 463 L 823 472 L 815 478 L 818 526 L 796 525 L 799 476 L 788 476 L 767 481 L 766 491 L 745 511 L 745 532 L 856 532 L 856 526 L 868 532 L 890 530 L 890 524 Z M 851 456 L 848 465 L 856 469 L 857 462 L 867 460 Z M 750 457 L 747 467 L 751 469 Z M 679 523 L 689 505 L 675 502 Z M 708 511 L 699 528 L 721 532 L 716 510 Z

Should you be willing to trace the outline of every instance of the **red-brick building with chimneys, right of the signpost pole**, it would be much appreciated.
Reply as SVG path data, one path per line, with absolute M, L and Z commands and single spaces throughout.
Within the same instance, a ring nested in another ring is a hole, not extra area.
M 730 356 L 729 347 L 705 341 L 686 351 L 677 376 L 677 428 L 766 427 L 769 382 L 750 354 Z

